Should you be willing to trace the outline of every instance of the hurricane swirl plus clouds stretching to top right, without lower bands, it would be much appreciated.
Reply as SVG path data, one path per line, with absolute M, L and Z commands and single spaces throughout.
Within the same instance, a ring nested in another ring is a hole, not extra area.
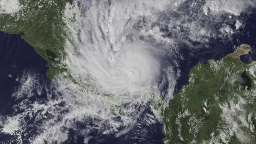
M 167 84 L 166 97 L 171 98 L 179 78 L 175 57 L 186 59 L 179 45 L 208 48 L 211 38 L 229 38 L 236 31 L 220 23 L 218 16 L 204 14 L 238 15 L 253 1 L 80 0 L 79 4 L 80 9 L 76 3 L 67 4 L 63 17 L 69 34 L 66 63 L 73 76 L 107 93 L 132 84 L 158 89 Z M 237 29 L 238 24 L 242 23 L 236 22 Z

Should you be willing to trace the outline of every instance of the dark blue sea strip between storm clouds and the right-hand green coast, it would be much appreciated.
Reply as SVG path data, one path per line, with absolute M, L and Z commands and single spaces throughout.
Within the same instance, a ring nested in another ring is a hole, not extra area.
M 174 94 L 177 94 L 182 86 L 188 84 L 188 74 L 190 69 L 196 66 L 198 62 L 206 64 L 209 59 L 220 60 L 227 54 L 234 52 L 234 46 L 249 44 L 252 50 L 240 56 L 242 62 L 251 62 L 256 60 L 256 10 L 251 10 L 250 14 L 242 13 L 237 17 L 243 22 L 244 28 L 232 36 L 232 40 L 223 40 L 214 38 L 210 40 L 210 48 L 205 50 L 193 50 L 186 46 L 180 47 L 180 52 L 184 54 L 186 60 L 180 60 L 181 77 L 178 79 Z M 235 27 L 233 26 L 235 29 Z M 196 46 L 196 44 L 195 44 Z

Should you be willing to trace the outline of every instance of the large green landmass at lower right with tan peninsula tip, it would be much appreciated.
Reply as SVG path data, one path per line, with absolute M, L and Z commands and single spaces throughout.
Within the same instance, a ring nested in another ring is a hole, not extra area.
M 256 143 L 256 63 L 240 60 L 250 50 L 242 44 L 190 70 L 189 84 L 164 112 L 166 144 Z

